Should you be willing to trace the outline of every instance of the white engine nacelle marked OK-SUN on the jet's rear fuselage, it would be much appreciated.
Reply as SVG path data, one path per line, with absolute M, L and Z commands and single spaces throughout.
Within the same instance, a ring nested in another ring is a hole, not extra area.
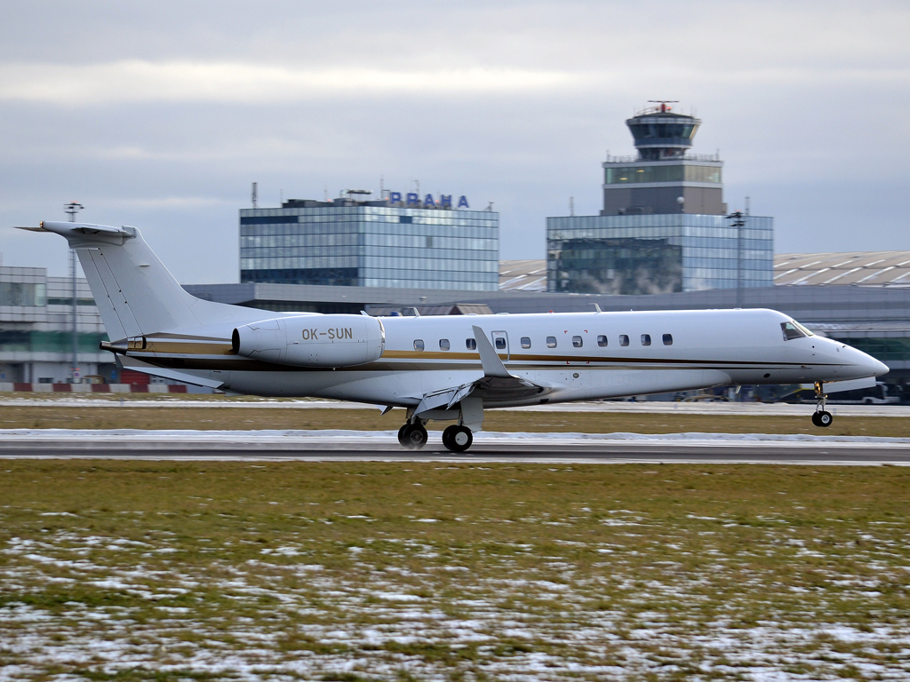
M 378 317 L 306 315 L 276 317 L 238 326 L 234 352 L 278 365 L 349 367 L 382 356 L 386 332 Z

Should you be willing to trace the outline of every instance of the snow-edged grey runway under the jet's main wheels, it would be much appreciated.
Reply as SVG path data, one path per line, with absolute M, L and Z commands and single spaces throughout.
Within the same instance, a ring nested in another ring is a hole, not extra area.
M 910 466 L 910 439 L 481 433 L 467 453 L 456 454 L 435 432 L 423 449 L 404 450 L 394 432 L 11 429 L 0 432 L 0 458 Z

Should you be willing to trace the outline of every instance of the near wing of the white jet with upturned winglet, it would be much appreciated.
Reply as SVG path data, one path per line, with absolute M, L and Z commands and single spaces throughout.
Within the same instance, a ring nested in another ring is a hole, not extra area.
M 426 394 L 414 410 L 415 414 L 420 415 L 433 409 L 450 409 L 468 396 L 483 398 L 488 405 L 494 405 L 531 396 L 545 396 L 552 391 L 552 386 L 511 374 L 502 364 L 500 356 L 496 355 L 496 350 L 484 331 L 476 325 L 473 329 L 477 350 L 480 353 L 480 364 L 483 366 L 483 376 L 467 384 Z

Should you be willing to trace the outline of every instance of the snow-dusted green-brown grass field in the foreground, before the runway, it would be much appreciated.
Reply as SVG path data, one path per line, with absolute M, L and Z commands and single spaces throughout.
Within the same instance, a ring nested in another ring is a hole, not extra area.
M 910 678 L 910 470 L 0 463 L 0 679 Z

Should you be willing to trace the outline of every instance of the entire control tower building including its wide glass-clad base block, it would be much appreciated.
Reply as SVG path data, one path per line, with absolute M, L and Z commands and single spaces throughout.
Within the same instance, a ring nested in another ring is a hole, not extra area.
M 599 216 L 547 218 L 547 290 L 639 295 L 772 285 L 773 218 L 727 217 L 723 162 L 666 103 L 626 121 L 637 156 L 603 163 Z

